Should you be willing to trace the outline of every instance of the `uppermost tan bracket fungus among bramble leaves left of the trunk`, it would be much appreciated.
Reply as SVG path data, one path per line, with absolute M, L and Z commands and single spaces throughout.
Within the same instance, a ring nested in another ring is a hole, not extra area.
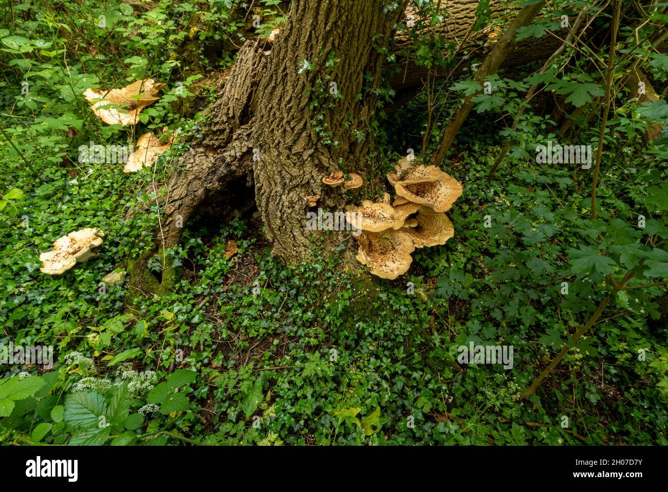
M 164 83 L 156 83 L 153 79 L 142 79 L 122 89 L 109 91 L 86 89 L 83 97 L 92 103 L 93 112 L 106 124 L 136 125 L 142 109 L 160 99 L 156 94 L 162 87 Z M 106 107 L 108 105 L 118 107 Z

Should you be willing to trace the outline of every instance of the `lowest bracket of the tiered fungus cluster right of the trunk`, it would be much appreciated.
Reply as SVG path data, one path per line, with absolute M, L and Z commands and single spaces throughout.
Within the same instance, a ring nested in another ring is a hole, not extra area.
M 371 268 L 371 273 L 380 278 L 394 280 L 408 271 L 415 250 L 413 242 L 403 231 L 388 229 L 382 232 L 367 232 L 355 238 L 359 244 L 357 260 Z

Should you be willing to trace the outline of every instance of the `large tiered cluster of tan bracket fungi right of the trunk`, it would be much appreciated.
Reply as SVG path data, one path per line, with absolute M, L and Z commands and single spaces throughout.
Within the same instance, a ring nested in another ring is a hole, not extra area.
M 372 274 L 393 280 L 407 272 L 415 248 L 445 244 L 454 236 L 445 212 L 462 196 L 462 185 L 436 166 L 413 165 L 406 159 L 387 180 L 397 194 L 393 204 L 365 200 L 349 208 L 349 220 L 362 230 L 355 238 L 357 260 Z

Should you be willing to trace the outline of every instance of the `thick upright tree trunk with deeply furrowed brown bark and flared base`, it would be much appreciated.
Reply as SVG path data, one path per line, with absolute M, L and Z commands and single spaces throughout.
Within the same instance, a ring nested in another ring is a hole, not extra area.
M 339 169 L 366 174 L 380 51 L 406 3 L 385 12 L 377 0 L 295 0 L 271 50 L 261 47 L 265 41 L 246 42 L 208 110 L 202 140 L 191 144 L 158 198 L 158 244 L 176 244 L 207 196 L 246 175 L 273 254 L 285 262 L 305 258 L 313 234 L 305 196 L 320 195 L 318 206 L 343 211 L 342 188 L 324 185 L 323 176 Z M 325 236 L 329 243 L 342 237 Z

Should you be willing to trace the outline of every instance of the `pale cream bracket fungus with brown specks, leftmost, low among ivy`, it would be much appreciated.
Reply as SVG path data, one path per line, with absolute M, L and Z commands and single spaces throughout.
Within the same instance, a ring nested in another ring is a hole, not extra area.
M 77 263 L 82 263 L 97 256 L 93 248 L 102 244 L 102 232 L 86 228 L 70 232 L 53 243 L 53 250 L 39 255 L 42 267 L 39 270 L 47 275 L 60 275 Z

